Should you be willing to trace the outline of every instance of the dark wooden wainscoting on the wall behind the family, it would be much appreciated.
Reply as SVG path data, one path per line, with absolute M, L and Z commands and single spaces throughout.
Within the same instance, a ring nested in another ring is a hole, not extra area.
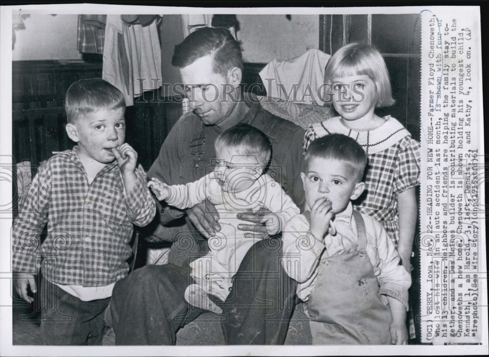
M 243 87 L 255 94 L 266 91 L 259 76 L 265 64 L 244 64 Z M 65 132 L 64 97 L 68 87 L 82 78 L 102 76 L 101 64 L 62 64 L 58 61 L 13 62 L 12 151 L 15 162 L 29 160 L 34 169 L 53 151 L 74 143 Z M 149 169 L 161 144 L 182 114 L 181 97 L 160 90 L 145 92 L 126 110 L 126 141 Z

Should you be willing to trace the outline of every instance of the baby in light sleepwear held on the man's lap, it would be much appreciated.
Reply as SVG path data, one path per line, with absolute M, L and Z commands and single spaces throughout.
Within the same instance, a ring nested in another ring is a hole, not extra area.
M 160 201 L 180 209 L 208 199 L 216 205 L 221 231 L 208 240 L 210 252 L 190 263 L 197 284 L 185 291 L 190 304 L 212 312 L 222 309 L 210 300 L 212 294 L 224 301 L 232 287 L 232 277 L 248 249 L 256 243 L 238 229 L 243 221 L 237 214 L 267 208 L 273 214 L 266 221 L 267 231 L 278 233 L 285 223 L 300 213 L 299 208 L 264 170 L 271 155 L 267 135 L 238 124 L 222 132 L 215 141 L 218 165 L 202 179 L 186 185 L 169 186 L 153 178 L 148 182 Z

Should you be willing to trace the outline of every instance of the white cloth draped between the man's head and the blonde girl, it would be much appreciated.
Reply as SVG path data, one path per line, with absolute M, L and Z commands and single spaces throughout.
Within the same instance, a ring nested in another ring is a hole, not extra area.
M 319 92 L 324 81 L 324 68 L 330 55 L 318 49 L 279 61 L 273 59 L 260 71 L 267 96 L 295 103 L 324 105 Z

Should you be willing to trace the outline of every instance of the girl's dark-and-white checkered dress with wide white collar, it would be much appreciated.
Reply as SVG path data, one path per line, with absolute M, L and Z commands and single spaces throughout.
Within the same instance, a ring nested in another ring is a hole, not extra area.
M 382 223 L 394 244 L 399 242 L 397 195 L 420 184 L 421 147 L 396 119 L 371 131 L 345 127 L 340 117 L 316 123 L 306 129 L 304 150 L 311 141 L 331 133 L 353 137 L 368 154 L 365 193 L 354 202 L 361 213 Z

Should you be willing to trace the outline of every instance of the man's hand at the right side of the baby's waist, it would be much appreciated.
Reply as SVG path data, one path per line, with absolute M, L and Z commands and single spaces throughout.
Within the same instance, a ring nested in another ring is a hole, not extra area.
M 264 239 L 267 235 L 279 233 L 282 230 L 278 216 L 267 208 L 260 208 L 257 212 L 238 213 L 238 219 L 255 224 L 238 224 L 238 229 L 250 231 L 244 233 L 244 238 Z

